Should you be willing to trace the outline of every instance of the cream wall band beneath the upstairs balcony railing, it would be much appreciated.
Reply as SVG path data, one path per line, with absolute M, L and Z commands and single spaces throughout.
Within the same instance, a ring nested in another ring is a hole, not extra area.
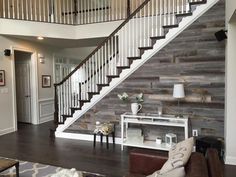
M 0 19 L 0 34 L 19 36 L 44 36 L 59 39 L 88 39 L 109 36 L 122 21 L 88 25 L 59 25 L 22 20 Z M 99 30 L 98 30 L 99 29 Z

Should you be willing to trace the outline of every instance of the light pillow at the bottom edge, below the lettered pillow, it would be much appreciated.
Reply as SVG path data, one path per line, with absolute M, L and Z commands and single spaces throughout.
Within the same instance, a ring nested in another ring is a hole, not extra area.
M 159 170 L 147 177 L 185 177 L 185 170 L 184 167 L 179 167 L 164 174 L 160 174 Z

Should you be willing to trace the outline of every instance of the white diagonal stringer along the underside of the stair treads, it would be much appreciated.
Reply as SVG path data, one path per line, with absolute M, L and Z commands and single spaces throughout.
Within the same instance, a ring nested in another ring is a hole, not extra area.
M 145 62 L 152 58 L 153 55 L 155 55 L 158 51 L 165 47 L 170 41 L 172 41 L 181 32 L 188 28 L 195 20 L 197 20 L 200 16 L 207 12 L 218 1 L 219 0 L 207 0 L 206 4 L 198 5 L 191 16 L 184 17 L 177 28 L 170 29 L 164 39 L 158 40 L 158 42 L 156 42 L 156 44 L 153 46 L 153 49 L 145 51 L 141 59 L 133 61 L 132 65 L 130 66 L 130 69 L 123 70 L 119 78 L 113 79 L 110 82 L 109 86 L 104 87 L 99 95 L 96 95 L 91 99 L 91 102 L 85 103 L 85 105 L 80 111 L 76 111 L 74 113 L 73 118 L 68 118 L 68 120 L 66 120 L 64 124 L 59 125 L 56 129 L 55 136 L 60 137 L 60 133 L 64 134 L 64 130 L 66 130 L 70 125 L 72 125 L 76 120 L 78 120 L 82 115 L 84 115 L 89 109 L 91 109 L 95 104 L 102 100 L 108 93 L 110 93 L 115 87 L 117 87 L 133 72 L 140 68 Z

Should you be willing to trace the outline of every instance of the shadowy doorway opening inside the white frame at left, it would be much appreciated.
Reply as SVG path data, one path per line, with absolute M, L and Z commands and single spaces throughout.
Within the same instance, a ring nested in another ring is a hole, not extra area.
M 17 122 L 21 123 L 32 123 L 31 55 L 29 52 L 14 51 Z

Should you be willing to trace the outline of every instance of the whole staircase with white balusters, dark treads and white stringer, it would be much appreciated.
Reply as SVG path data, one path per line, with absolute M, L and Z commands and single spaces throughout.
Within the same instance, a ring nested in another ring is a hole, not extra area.
M 83 116 L 218 0 L 145 0 L 55 84 L 55 135 Z

